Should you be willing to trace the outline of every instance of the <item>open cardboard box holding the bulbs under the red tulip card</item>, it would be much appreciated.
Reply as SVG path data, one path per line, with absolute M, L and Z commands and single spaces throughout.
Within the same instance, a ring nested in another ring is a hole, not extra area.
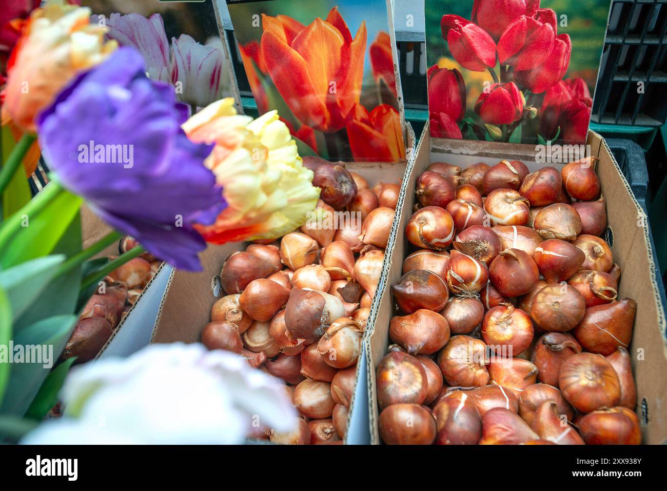
M 667 442 L 667 345 L 664 306 L 658 294 L 655 277 L 655 260 L 649 246 L 649 231 L 644 225 L 642 210 L 634 199 L 630 185 L 622 175 L 614 156 L 604 139 L 589 131 L 588 145 L 598 161 L 597 173 L 606 197 L 608 232 L 605 234 L 620 265 L 619 298 L 630 297 L 637 302 L 634 335 L 630 346 L 634 376 L 637 383 L 637 407 L 644 444 Z M 531 170 L 544 165 L 535 163 L 536 148 L 532 145 L 508 145 L 507 143 L 480 143 L 462 140 L 432 139 L 427 123 L 419 145 L 406 169 L 406 180 L 396 208 L 398 219 L 390 235 L 385 256 L 385 270 L 380 278 L 380 298 L 374 302 L 368 325 L 372 330 L 364 334 L 364 350 L 368 362 L 366 376 L 368 393 L 355 394 L 350 412 L 363 414 L 368 410 L 370 442 L 380 444 L 378 435 L 378 404 L 376 402 L 376 367 L 386 354 L 390 344 L 389 323 L 394 316 L 394 301 L 388 285 L 398 282 L 402 276 L 402 264 L 408 252 L 404 230 L 413 213 L 415 183 L 418 175 L 432 161 L 447 161 L 468 167 L 479 161 L 495 164 L 500 159 L 519 159 Z M 368 405 L 365 399 L 368 398 Z M 360 408 L 363 404 L 364 408 Z

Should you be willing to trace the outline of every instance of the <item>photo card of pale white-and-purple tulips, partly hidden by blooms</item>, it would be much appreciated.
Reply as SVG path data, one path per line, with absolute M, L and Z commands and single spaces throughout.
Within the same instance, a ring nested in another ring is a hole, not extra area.
M 240 97 L 213 0 L 81 0 L 107 37 L 138 49 L 147 75 L 173 85 L 191 111 Z

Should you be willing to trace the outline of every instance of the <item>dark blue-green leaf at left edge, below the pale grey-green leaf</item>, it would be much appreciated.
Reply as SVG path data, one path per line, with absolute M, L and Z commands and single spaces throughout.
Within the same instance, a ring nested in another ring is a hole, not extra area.
M 14 336 L 14 346 L 21 347 L 26 358 L 30 353 L 30 361 L 33 363 L 26 363 L 26 359 L 23 363 L 11 366 L 11 377 L 0 410 L 2 414 L 25 414 L 63 352 L 77 320 L 78 317 L 73 314 L 49 317 L 24 328 Z M 37 354 L 41 355 L 41 360 L 37 358 L 35 361 L 32 355 Z

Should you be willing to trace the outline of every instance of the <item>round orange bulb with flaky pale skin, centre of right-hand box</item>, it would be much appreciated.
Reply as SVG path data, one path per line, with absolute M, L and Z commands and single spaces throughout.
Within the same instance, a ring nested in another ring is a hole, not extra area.
M 533 323 L 528 314 L 514 308 L 512 304 L 492 308 L 482 321 L 484 342 L 495 352 L 507 349 L 510 356 L 526 351 L 533 340 L 533 334 Z

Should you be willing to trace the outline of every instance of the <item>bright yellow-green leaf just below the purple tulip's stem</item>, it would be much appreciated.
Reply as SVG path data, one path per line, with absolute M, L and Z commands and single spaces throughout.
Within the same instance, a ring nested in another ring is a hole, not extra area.
M 49 184 L 51 187 L 53 183 Z M 33 201 L 39 200 L 41 191 Z M 61 241 L 63 234 L 77 217 L 82 200 L 67 191 L 55 194 L 35 215 L 11 219 L 20 220 L 22 226 L 4 244 L 0 252 L 0 267 L 11 268 L 23 262 L 48 256 Z M 19 211 L 21 213 L 21 211 Z

